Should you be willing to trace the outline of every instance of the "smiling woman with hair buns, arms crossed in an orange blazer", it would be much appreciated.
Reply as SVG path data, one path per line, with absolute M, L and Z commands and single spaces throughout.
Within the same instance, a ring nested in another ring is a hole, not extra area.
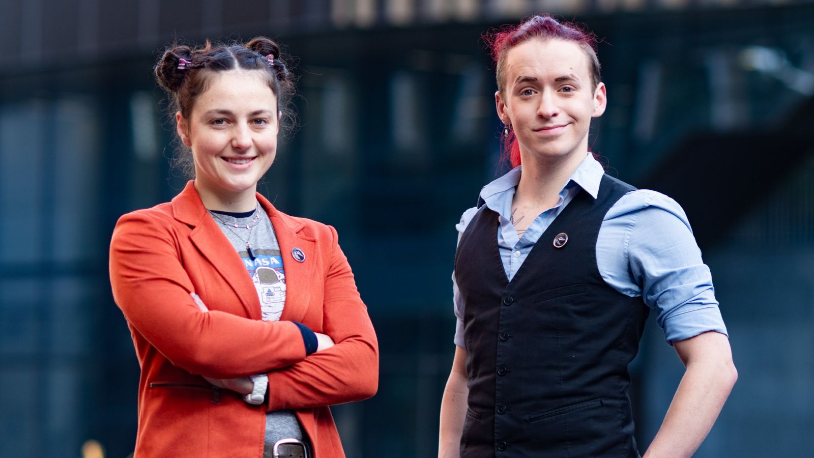
M 142 368 L 135 456 L 345 456 L 328 406 L 375 394 L 379 350 L 334 228 L 256 192 L 291 120 L 279 46 L 172 46 L 155 77 L 195 178 L 113 232 Z

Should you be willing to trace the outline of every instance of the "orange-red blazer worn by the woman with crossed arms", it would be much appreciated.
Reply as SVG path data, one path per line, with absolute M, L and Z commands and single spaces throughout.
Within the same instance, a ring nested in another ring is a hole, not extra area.
M 171 202 L 125 214 L 110 250 L 113 297 L 133 335 L 141 379 L 135 458 L 263 456 L 265 412 L 293 409 L 317 458 L 344 457 L 327 406 L 370 398 L 379 347 L 336 231 L 274 209 L 286 270 L 276 322 L 260 319 L 246 267 L 209 216 L 193 183 Z M 305 253 L 296 262 L 291 250 Z M 199 310 L 190 293 L 208 306 Z M 305 356 L 293 321 L 336 345 Z M 267 372 L 269 401 L 252 406 L 203 377 Z

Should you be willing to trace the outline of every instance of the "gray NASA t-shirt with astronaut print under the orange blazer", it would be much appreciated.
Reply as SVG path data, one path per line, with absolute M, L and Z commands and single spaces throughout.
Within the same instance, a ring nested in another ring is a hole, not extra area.
M 212 218 L 221 227 L 224 235 L 237 250 L 243 266 L 257 289 L 260 298 L 260 311 L 263 321 L 277 321 L 286 303 L 286 272 L 282 266 L 282 256 L 274 227 L 269 216 L 257 206 L 256 213 L 246 218 L 235 218 L 234 214 L 212 212 Z M 242 214 L 237 214 L 243 216 Z M 238 227 L 235 227 L 237 224 Z M 247 225 L 251 230 L 247 229 Z M 246 243 L 252 247 L 254 258 L 249 256 Z M 303 342 L 292 342 L 293 345 L 304 345 Z M 274 386 L 269 386 L 269 393 L 274 393 Z M 270 457 L 272 446 L 282 438 L 303 438 L 300 422 L 291 410 L 269 412 L 265 417 L 265 451 Z

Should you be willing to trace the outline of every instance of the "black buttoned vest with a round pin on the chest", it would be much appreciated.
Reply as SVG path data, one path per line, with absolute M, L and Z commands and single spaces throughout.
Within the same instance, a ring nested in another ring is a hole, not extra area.
M 469 379 L 462 458 L 638 456 L 628 363 L 649 309 L 606 284 L 596 259 L 602 218 L 632 189 L 605 175 L 597 199 L 580 190 L 511 281 L 497 213 L 484 205 L 470 221 L 455 254 Z

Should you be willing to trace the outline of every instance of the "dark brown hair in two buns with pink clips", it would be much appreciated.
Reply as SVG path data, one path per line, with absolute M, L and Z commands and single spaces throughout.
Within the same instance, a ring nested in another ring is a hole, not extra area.
M 255 37 L 245 44 L 207 40 L 204 46 L 190 47 L 174 43 L 164 50 L 164 55 L 155 64 L 155 80 L 167 91 L 169 112 L 173 117 L 175 112 L 181 112 L 188 118 L 195 100 L 207 90 L 212 73 L 235 68 L 260 70 L 277 97 L 280 129 L 285 132 L 295 126 L 296 118 L 291 108 L 295 78 L 284 59 L 280 46 L 267 37 Z M 191 155 L 183 143 L 177 148 L 174 163 L 186 176 L 195 176 Z

